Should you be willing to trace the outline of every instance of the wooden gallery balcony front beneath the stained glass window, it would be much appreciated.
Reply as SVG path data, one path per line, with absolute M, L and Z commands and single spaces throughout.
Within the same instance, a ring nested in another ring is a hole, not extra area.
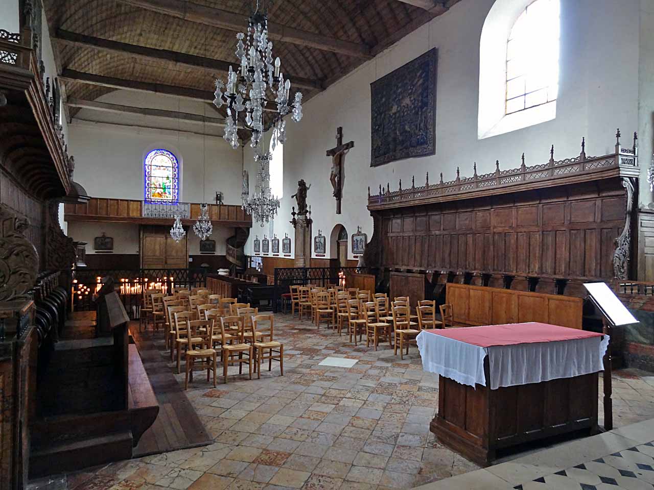
M 161 204 L 92 197 L 85 204 L 66 204 L 64 220 L 172 225 L 179 215 L 182 225 L 192 225 L 199 214 L 199 203 Z M 209 217 L 213 225 L 252 227 L 252 217 L 233 204 L 209 204 Z

